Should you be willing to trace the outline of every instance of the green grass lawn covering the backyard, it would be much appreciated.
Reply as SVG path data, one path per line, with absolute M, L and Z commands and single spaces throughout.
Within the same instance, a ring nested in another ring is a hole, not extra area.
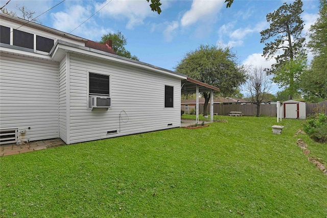
M 216 118 L 1 157 L 1 217 L 327 216 L 327 175 L 296 140 L 324 163 L 327 144 L 293 137 L 302 120 L 274 135 L 273 117 Z

